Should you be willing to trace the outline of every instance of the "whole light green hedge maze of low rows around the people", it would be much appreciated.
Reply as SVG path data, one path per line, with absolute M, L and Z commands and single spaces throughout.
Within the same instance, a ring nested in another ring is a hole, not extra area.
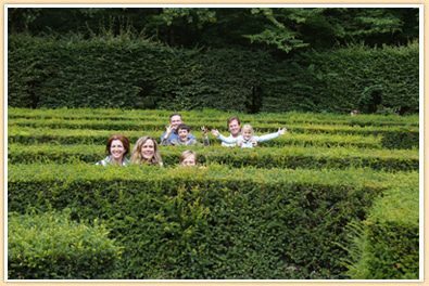
M 288 132 L 211 136 L 188 147 L 203 168 L 173 146 L 165 168 L 94 166 L 109 135 L 159 139 L 169 114 L 9 108 L 9 278 L 418 278 L 418 116 L 238 114 Z M 231 115 L 182 113 L 198 139 Z

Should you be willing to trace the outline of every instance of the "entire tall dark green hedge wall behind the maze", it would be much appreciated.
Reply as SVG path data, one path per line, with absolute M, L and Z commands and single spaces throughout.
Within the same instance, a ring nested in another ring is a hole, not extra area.
M 9 36 L 17 107 L 417 113 L 419 49 L 352 46 L 278 61 L 267 52 L 172 49 L 144 39 Z

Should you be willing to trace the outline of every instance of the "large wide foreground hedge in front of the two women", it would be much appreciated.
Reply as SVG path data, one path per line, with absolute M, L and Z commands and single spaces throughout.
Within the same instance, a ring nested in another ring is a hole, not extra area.
M 102 219 L 125 247 L 122 278 L 344 278 L 345 225 L 392 185 L 418 176 L 12 165 L 8 206 Z

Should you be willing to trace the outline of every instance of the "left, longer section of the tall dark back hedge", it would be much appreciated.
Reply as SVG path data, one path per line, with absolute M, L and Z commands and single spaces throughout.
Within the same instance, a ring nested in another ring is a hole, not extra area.
M 260 78 L 256 67 L 266 58 L 263 52 L 201 52 L 147 40 L 14 35 L 9 37 L 9 105 L 244 112 Z

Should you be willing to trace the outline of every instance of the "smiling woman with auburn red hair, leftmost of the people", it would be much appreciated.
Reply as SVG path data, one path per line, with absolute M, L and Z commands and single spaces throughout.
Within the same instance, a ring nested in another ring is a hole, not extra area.
M 108 139 L 105 145 L 108 157 L 98 161 L 96 165 L 109 166 L 126 166 L 129 160 L 125 157 L 129 152 L 129 140 L 126 136 L 114 134 Z

